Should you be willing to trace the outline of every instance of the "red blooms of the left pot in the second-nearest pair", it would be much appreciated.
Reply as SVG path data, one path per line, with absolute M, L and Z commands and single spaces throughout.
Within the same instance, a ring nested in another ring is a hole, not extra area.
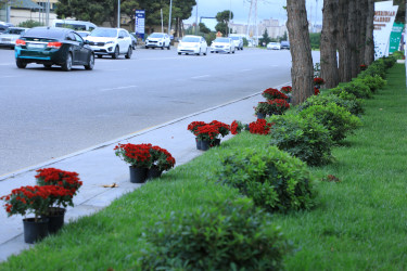
M 117 144 L 114 147 L 116 156 L 120 156 L 131 166 L 150 168 L 151 166 L 151 144 Z

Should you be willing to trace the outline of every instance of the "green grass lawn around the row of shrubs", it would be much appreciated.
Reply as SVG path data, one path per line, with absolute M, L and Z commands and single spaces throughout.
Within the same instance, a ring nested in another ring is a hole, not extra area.
M 333 175 L 341 182 L 317 182 L 315 209 L 274 216 L 297 248 L 285 258 L 288 270 L 407 270 L 406 78 L 403 65 L 389 72 L 387 86 L 365 103 L 364 127 L 333 150 L 333 164 L 310 168 L 317 180 Z M 239 134 L 65 225 L 0 270 L 137 270 L 142 233 L 161 216 L 239 196 L 216 184 L 222 156 L 268 144 L 266 136 Z

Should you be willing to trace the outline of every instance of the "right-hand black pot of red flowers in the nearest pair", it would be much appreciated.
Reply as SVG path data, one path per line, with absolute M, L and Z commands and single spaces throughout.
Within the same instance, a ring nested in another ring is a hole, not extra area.
M 38 169 L 35 178 L 40 186 L 55 185 L 64 190 L 53 190 L 43 217 L 49 219 L 49 232 L 58 232 L 64 224 L 67 206 L 74 206 L 73 196 L 82 185 L 77 172 L 65 171 L 56 168 Z

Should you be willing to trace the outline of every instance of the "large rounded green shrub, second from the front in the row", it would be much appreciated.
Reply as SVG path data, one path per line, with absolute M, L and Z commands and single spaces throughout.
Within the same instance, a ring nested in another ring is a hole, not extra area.
M 268 211 L 310 209 L 315 205 L 306 165 L 276 146 L 229 154 L 218 176 L 219 182 L 237 188 Z

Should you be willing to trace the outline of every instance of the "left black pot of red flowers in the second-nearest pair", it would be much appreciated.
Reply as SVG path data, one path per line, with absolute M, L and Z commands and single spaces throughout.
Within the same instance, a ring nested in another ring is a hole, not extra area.
M 145 182 L 148 169 L 152 166 L 151 147 L 151 144 L 131 143 L 117 144 L 114 147 L 116 156 L 130 164 L 130 182 Z

